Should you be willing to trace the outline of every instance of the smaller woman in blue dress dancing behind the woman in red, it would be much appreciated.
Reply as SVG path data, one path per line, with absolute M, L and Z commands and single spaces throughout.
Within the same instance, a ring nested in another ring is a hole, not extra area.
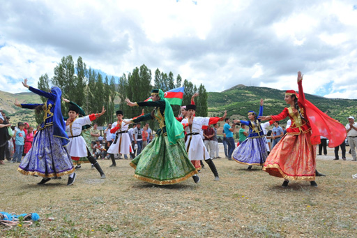
M 259 116 L 263 115 L 263 99 L 260 99 Z M 250 121 L 234 120 L 235 124 L 241 123 L 249 126 L 248 137 L 234 149 L 232 158 L 238 163 L 249 165 L 248 170 L 252 169 L 252 165 L 263 165 L 267 154 L 266 137 L 261 128 L 260 119 L 254 111 L 248 112 Z

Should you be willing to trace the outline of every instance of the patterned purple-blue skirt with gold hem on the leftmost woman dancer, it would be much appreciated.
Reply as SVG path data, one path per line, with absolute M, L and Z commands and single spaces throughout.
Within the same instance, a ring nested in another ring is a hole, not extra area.
M 53 126 L 47 126 L 36 133 L 32 147 L 17 171 L 25 175 L 50 178 L 71 174 L 75 168 L 61 139 L 54 137 Z

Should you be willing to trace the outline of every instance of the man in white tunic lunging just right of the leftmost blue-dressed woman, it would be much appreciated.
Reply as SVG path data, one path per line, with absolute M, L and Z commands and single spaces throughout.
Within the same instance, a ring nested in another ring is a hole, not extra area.
M 70 142 L 67 144 L 67 150 L 73 160 L 78 160 L 79 157 L 87 157 L 89 162 L 98 170 L 101 179 L 105 179 L 105 174 L 100 168 L 98 161 L 92 156 L 91 151 L 86 145 L 86 141 L 82 137 L 82 126 L 91 124 L 98 117 L 105 113 L 104 106 L 102 112 L 90 114 L 86 117 L 78 117 L 79 108 L 75 105 L 70 105 L 68 110 L 68 119 L 66 121 L 66 133 L 68 134 Z

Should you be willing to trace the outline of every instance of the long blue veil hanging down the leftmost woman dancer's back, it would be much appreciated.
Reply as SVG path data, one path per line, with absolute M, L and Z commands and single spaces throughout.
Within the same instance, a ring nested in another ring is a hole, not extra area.
M 65 146 L 70 141 L 66 133 L 66 123 L 64 122 L 61 112 L 62 91 L 59 87 L 52 87 L 50 93 L 56 96 L 56 98 L 54 98 L 53 135 L 55 137 L 60 137 L 62 140 L 62 146 Z

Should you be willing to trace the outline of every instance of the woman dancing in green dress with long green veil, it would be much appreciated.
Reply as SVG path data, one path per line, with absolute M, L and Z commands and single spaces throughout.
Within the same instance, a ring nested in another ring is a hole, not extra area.
M 149 102 L 132 103 L 126 99 L 130 107 L 155 107 L 151 113 L 127 121 L 128 124 L 155 118 L 160 126 L 153 141 L 131 161 L 130 165 L 135 168 L 134 176 L 159 185 L 176 184 L 189 177 L 198 183 L 197 170 L 185 151 L 182 125 L 175 119 L 172 107 L 161 89 L 153 89 L 151 96 L 153 101 Z

